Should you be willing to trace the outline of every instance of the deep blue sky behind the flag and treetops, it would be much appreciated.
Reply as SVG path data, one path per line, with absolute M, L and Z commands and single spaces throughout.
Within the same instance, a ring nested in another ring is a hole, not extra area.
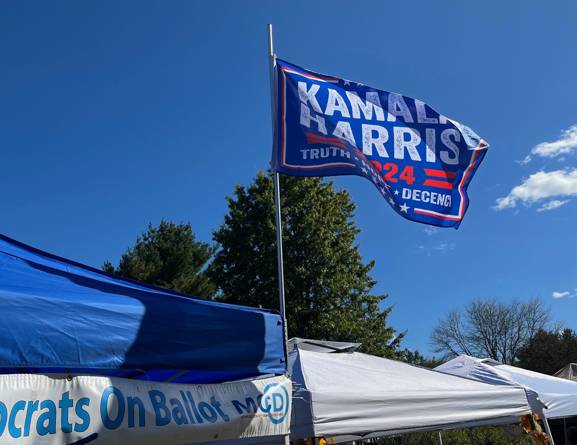
M 268 165 L 272 22 L 280 58 L 416 97 L 491 145 L 458 231 L 336 179 L 403 345 L 428 353 L 437 317 L 470 297 L 540 295 L 577 328 L 576 13 L 572 1 L 3 2 L 0 232 L 95 267 L 161 218 L 210 240 L 224 196 Z

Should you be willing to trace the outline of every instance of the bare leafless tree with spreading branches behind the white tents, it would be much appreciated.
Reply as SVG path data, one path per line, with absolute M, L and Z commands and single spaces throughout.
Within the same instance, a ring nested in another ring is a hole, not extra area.
M 514 365 L 519 350 L 551 319 L 551 307 L 539 297 L 509 303 L 473 299 L 462 308 L 447 311 L 433 327 L 429 343 L 441 360 L 466 354 Z

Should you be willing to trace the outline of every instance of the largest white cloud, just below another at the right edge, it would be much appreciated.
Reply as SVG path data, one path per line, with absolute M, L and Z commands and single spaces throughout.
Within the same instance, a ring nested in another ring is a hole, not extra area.
M 552 172 L 540 171 L 529 176 L 520 186 L 514 187 L 506 197 L 497 199 L 497 205 L 493 206 L 493 209 L 513 208 L 519 200 L 524 205 L 531 205 L 544 198 L 575 195 L 577 195 L 577 168 Z

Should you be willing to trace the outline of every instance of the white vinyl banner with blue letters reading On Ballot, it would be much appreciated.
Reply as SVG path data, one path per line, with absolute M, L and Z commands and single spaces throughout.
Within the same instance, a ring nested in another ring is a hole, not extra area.
M 186 444 L 288 434 L 285 376 L 173 384 L 0 375 L 0 444 Z

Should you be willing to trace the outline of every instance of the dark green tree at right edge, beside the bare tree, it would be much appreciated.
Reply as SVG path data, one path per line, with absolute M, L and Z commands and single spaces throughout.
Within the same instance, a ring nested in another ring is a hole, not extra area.
M 577 363 L 577 333 L 565 328 L 540 329 L 519 351 L 520 368 L 553 375 L 569 363 Z

